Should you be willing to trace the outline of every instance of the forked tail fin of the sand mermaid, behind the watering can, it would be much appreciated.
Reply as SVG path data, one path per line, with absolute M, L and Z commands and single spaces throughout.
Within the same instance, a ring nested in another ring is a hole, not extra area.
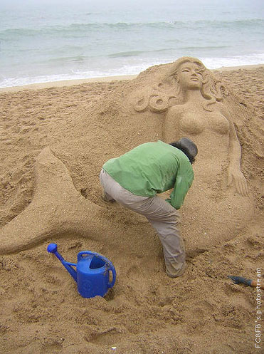
M 0 230 L 0 254 L 16 253 L 51 237 L 89 235 L 90 239 L 104 241 L 106 235 L 118 233 L 115 224 L 102 216 L 103 208 L 75 189 L 69 171 L 49 147 L 36 157 L 34 172 L 33 199 L 21 214 Z M 120 246 L 115 238 L 110 244 Z

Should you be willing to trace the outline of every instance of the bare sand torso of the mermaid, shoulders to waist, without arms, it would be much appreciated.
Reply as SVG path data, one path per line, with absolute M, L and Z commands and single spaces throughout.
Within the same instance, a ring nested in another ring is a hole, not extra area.
M 199 105 L 176 105 L 169 109 L 168 125 L 164 125 L 166 142 L 190 137 L 196 143 L 196 177 L 208 185 L 222 179 L 228 164 L 230 123 L 218 108 L 214 105 L 208 111 Z

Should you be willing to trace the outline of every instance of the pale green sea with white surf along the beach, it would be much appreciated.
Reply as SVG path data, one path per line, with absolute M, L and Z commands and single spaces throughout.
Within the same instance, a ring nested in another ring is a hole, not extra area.
M 264 63 L 263 0 L 0 0 L 0 87 Z

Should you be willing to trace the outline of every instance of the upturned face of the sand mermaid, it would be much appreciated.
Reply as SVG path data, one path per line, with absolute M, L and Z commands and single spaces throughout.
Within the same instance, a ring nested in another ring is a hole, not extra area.
M 181 88 L 201 88 L 203 82 L 201 68 L 196 63 L 183 63 L 177 71 L 177 80 Z

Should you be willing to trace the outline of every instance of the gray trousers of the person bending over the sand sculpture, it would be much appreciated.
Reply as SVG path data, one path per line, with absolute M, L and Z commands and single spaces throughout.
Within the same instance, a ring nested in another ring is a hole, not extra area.
M 159 234 L 162 242 L 166 273 L 171 278 L 184 273 L 185 249 L 179 231 L 179 213 L 160 197 L 141 197 L 120 186 L 110 175 L 101 170 L 100 182 L 105 199 L 116 201 L 134 212 L 144 215 Z

